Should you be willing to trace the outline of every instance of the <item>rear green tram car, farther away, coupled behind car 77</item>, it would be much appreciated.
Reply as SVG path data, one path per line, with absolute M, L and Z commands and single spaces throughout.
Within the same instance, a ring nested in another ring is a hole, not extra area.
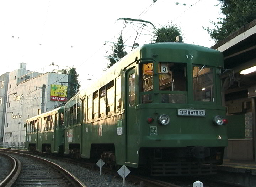
M 63 154 L 64 107 L 26 120 L 26 148 Z

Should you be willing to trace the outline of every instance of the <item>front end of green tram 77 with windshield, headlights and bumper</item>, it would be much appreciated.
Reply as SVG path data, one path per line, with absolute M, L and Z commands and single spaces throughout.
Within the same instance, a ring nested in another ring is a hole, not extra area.
M 128 150 L 139 149 L 139 166 L 150 168 L 153 176 L 214 173 L 228 142 L 221 98 L 222 53 L 162 43 L 145 45 L 140 57 L 139 104 L 136 119 L 129 119 L 136 120 L 139 138 L 128 138 Z M 129 141 L 138 147 L 129 147 Z

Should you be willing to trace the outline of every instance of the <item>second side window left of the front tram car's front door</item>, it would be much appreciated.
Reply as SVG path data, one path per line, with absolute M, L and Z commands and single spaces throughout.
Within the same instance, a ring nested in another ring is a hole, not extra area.
M 114 80 L 107 84 L 107 114 L 114 112 Z

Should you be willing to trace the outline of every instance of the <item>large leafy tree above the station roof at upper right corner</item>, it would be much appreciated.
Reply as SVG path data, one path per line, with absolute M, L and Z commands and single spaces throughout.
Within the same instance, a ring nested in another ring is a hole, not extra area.
M 210 34 L 210 38 L 216 42 L 226 38 L 242 26 L 250 23 L 256 17 L 255 0 L 219 0 L 221 12 L 225 18 L 218 18 L 214 23 L 215 29 L 204 28 Z

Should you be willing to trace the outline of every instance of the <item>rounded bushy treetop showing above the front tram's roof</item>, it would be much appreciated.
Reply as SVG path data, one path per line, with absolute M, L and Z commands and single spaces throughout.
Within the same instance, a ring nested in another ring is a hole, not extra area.
M 156 28 L 153 32 L 155 34 L 153 41 L 155 42 L 175 42 L 176 36 L 182 36 L 181 28 L 175 25 L 162 26 Z

